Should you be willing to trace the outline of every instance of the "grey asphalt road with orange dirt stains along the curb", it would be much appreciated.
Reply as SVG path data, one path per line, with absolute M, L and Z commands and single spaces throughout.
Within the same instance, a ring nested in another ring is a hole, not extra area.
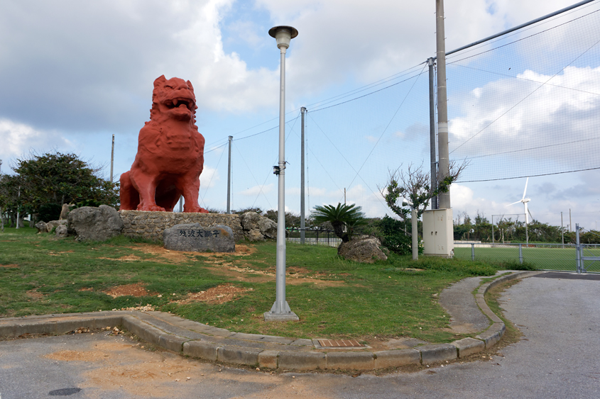
M 275 375 L 149 352 L 126 337 L 69 335 L 0 342 L 0 399 L 600 398 L 600 281 L 551 276 L 504 293 L 524 338 L 485 361 L 386 376 Z

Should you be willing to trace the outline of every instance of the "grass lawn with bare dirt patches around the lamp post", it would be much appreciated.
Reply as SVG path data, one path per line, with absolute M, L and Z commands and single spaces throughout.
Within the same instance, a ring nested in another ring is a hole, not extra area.
M 300 322 L 264 322 L 275 300 L 275 242 L 242 242 L 234 254 L 197 254 L 126 237 L 76 242 L 34 232 L 0 233 L 0 317 L 149 304 L 239 332 L 449 342 L 463 336 L 445 330 L 439 293 L 464 277 L 502 269 L 393 254 L 386 262 L 359 264 L 340 259 L 335 248 L 288 243 L 287 300 Z

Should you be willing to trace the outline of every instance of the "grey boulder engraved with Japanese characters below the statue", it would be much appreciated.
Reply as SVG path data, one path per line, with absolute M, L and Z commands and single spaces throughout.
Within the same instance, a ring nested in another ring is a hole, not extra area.
M 236 242 L 231 227 L 204 227 L 200 223 L 183 223 L 163 231 L 166 249 L 192 252 L 235 252 Z

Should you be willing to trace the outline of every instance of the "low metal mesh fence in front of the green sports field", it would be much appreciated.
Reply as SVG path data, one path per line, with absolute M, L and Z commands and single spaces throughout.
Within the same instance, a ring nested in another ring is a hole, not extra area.
M 587 257 L 600 257 L 600 245 L 581 244 Z M 575 244 L 483 244 L 480 242 L 454 242 L 454 257 L 459 259 L 487 260 L 491 262 L 528 263 L 540 270 L 587 271 L 600 273 L 600 261 L 579 260 Z M 578 269 L 577 262 L 582 262 Z

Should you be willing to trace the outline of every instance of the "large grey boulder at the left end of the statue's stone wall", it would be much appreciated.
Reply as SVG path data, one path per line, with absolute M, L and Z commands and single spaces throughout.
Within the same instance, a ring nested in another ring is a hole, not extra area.
M 106 241 L 120 235 L 123 220 L 115 208 L 101 205 L 82 206 L 67 215 L 69 234 L 77 235 L 77 240 Z

